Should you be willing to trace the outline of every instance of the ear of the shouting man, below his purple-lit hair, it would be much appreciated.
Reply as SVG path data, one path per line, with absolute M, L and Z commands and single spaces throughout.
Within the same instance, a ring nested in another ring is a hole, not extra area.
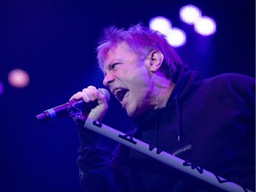
M 159 51 L 152 51 L 148 55 L 148 69 L 152 72 L 157 71 L 164 60 L 164 55 L 162 52 Z

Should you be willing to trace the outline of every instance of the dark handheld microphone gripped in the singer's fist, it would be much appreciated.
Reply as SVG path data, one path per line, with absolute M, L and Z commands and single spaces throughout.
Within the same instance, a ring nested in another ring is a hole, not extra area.
M 108 90 L 100 88 L 98 89 L 98 91 L 105 96 L 107 101 L 110 99 L 110 94 Z M 69 116 L 74 113 L 74 110 L 80 112 L 84 110 L 88 111 L 92 108 L 95 108 L 97 105 L 97 100 L 88 103 L 84 102 L 84 100 L 70 100 L 69 102 L 64 103 L 60 106 L 45 110 L 42 114 L 37 115 L 36 119 L 37 121 L 48 122 L 62 116 Z

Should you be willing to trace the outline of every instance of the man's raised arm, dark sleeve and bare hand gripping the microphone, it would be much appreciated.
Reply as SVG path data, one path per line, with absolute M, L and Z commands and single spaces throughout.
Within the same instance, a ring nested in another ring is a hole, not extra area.
M 84 111 L 83 115 L 95 120 L 101 120 L 108 109 L 107 100 L 95 87 L 89 86 L 83 92 L 77 92 L 70 100 L 84 100 L 91 102 L 98 100 L 98 106 L 91 111 Z M 86 130 L 77 124 L 80 148 L 77 164 L 79 177 L 84 191 L 115 192 L 116 181 L 110 168 L 111 158 L 106 148 L 100 144 L 100 135 Z

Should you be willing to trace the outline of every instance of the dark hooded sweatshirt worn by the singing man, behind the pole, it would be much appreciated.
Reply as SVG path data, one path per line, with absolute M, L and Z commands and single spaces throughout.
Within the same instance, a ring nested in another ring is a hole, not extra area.
M 202 79 L 183 67 L 166 107 L 134 119 L 132 136 L 254 190 L 254 91 L 251 77 Z M 111 160 L 98 145 L 81 147 L 78 164 L 85 191 L 222 191 L 123 145 Z

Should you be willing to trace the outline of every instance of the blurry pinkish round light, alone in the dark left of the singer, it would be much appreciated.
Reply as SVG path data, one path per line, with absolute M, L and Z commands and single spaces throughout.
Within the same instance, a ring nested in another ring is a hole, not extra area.
M 16 88 L 23 88 L 29 84 L 28 73 L 20 68 L 15 68 L 8 74 L 9 84 Z

